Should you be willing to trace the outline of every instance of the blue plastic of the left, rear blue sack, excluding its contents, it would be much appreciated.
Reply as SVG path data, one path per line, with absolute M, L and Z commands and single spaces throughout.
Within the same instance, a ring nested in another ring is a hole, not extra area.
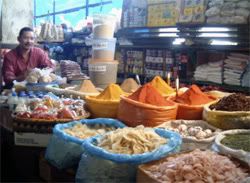
M 79 123 L 87 125 L 104 124 L 116 128 L 125 127 L 121 121 L 111 118 L 83 119 L 55 125 L 53 136 L 51 137 L 46 149 L 45 158 L 59 169 L 77 165 L 81 159 L 82 153 L 84 153 L 81 144 L 86 139 L 79 139 L 64 132 L 64 129 L 71 128 Z

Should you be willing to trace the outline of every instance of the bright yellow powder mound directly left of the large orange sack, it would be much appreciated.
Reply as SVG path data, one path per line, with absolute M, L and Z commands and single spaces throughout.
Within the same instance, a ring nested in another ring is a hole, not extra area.
M 96 96 L 99 100 L 120 100 L 120 95 L 124 94 L 122 89 L 117 84 L 110 84 L 105 90 Z

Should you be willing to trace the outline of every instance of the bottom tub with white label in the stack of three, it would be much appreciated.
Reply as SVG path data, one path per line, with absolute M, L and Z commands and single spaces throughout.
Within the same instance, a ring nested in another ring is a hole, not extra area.
M 116 83 L 118 62 L 89 61 L 90 80 L 97 88 L 106 88 L 110 83 Z

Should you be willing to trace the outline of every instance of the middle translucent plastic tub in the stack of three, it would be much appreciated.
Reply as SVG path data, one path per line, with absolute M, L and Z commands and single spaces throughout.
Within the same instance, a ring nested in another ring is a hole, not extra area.
M 93 39 L 92 40 L 92 49 L 93 49 L 92 58 L 114 60 L 115 44 L 116 44 L 116 38 Z

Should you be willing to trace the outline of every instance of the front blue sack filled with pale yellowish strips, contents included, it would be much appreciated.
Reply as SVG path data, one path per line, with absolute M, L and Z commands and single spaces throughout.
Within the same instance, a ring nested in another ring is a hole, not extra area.
M 142 126 L 89 138 L 76 182 L 135 182 L 138 165 L 175 153 L 180 145 L 179 134 Z

